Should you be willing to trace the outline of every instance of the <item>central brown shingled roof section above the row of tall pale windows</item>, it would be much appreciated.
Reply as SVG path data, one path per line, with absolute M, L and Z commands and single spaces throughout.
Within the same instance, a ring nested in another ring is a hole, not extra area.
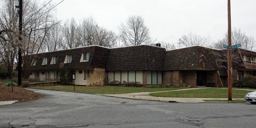
M 165 51 L 148 45 L 110 49 L 106 70 L 163 70 Z

